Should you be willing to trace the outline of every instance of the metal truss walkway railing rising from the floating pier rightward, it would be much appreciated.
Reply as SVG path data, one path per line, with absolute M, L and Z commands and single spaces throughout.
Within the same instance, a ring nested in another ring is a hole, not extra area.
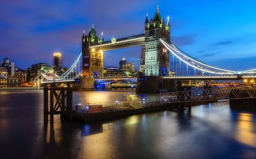
M 256 98 L 256 85 L 185 90 L 160 93 L 160 103 Z

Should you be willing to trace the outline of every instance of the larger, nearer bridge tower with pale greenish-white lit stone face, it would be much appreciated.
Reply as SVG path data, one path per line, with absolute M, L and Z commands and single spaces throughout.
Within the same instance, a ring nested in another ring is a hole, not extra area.
M 165 26 L 157 7 L 154 18 L 145 20 L 145 76 L 169 76 L 169 51 L 161 44 L 160 38 L 170 42 L 169 17 Z

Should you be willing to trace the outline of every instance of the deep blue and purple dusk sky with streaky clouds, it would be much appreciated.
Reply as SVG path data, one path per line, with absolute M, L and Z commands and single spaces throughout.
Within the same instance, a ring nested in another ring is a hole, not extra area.
M 71 65 L 81 52 L 82 30 L 94 24 L 104 39 L 141 34 L 145 14 L 170 16 L 171 41 L 187 54 L 233 71 L 256 66 L 256 1 L 0 1 L 0 60 L 6 56 L 17 67 Z M 104 53 L 104 67 L 118 66 L 122 57 L 139 65 L 141 47 Z

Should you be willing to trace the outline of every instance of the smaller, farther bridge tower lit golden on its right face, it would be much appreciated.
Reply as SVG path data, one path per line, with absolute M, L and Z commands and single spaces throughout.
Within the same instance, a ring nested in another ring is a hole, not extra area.
M 104 41 L 103 33 L 98 38 L 95 28 L 92 25 L 89 34 L 82 34 L 82 76 L 84 78 L 103 78 L 103 52 L 97 49 L 90 49 L 92 44 L 100 44 Z

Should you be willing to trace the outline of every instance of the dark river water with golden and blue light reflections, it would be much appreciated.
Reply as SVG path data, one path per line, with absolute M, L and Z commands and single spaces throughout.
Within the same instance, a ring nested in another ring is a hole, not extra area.
M 74 92 L 74 103 L 134 92 Z M 158 95 L 141 94 L 142 98 Z M 229 102 L 102 122 L 43 122 L 42 90 L 0 91 L 0 158 L 256 158 L 256 113 Z

